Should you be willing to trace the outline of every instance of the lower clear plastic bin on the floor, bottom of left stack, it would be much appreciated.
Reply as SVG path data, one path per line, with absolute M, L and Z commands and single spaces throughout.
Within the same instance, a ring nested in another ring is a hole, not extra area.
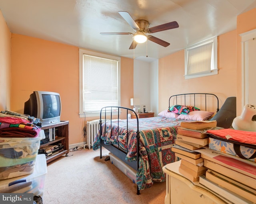
M 34 196 L 44 196 L 44 183 L 47 173 L 45 155 L 38 155 L 34 173 L 0 181 L 0 193 L 33 193 Z

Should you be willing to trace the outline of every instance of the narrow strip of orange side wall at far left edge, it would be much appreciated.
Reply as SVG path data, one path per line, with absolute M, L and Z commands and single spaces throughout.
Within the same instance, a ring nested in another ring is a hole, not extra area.
M 0 110 L 10 109 L 11 33 L 0 11 Z

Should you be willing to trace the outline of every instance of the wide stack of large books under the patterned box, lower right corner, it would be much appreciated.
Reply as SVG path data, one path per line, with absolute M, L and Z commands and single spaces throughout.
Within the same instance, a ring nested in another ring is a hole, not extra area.
M 256 163 L 207 148 L 198 152 L 207 169 L 200 184 L 234 203 L 256 202 Z

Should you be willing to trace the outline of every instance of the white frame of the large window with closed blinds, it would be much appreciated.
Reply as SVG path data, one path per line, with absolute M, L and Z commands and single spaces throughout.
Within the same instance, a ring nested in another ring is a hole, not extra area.
M 99 111 L 92 111 L 92 112 L 84 112 L 84 67 L 83 67 L 83 61 L 84 57 L 83 55 L 93 55 L 97 57 L 107 58 L 107 59 L 113 59 L 118 61 L 118 106 L 120 106 L 120 60 L 121 58 L 115 55 L 109 55 L 105 53 L 99 53 L 96 51 L 91 51 L 87 49 L 79 49 L 79 117 L 84 118 L 86 117 L 94 117 L 94 116 L 100 116 L 100 110 Z M 99 87 L 104 88 L 104 87 Z M 107 112 L 107 115 L 110 114 L 110 111 Z M 112 114 L 116 115 L 115 112 L 112 112 Z

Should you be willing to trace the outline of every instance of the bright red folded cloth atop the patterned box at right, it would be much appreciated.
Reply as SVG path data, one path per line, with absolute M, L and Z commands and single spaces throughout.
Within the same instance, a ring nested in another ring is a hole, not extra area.
M 256 144 L 256 132 L 228 128 L 208 130 L 207 133 L 211 133 L 228 140 L 238 141 L 247 144 Z

